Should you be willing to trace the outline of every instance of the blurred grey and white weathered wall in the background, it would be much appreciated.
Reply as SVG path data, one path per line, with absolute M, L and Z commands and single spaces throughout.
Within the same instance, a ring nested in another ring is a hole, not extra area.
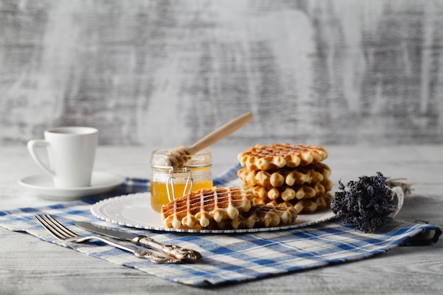
M 0 0 L 0 143 L 443 143 L 443 1 Z

